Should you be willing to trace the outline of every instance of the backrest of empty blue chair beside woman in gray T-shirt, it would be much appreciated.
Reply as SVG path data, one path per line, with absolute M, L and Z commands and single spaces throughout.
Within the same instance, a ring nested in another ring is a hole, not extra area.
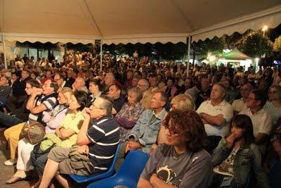
M 117 176 L 130 177 L 138 182 L 150 156 L 138 150 L 131 150 L 126 156 L 124 163 L 117 172 Z

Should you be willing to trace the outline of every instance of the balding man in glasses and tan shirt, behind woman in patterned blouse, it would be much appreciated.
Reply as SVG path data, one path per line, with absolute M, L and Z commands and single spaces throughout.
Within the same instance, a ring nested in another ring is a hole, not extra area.
M 150 103 L 152 99 L 152 90 L 150 89 L 150 84 L 148 80 L 141 79 L 138 81 L 138 88 L 141 89 L 141 92 L 143 93 L 143 99 L 141 99 L 141 104 L 145 109 L 150 108 Z

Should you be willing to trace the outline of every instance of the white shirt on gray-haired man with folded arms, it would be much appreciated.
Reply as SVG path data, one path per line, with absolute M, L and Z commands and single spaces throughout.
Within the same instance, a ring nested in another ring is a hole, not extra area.
M 204 124 L 205 131 L 208 136 L 221 136 L 225 137 L 229 131 L 229 122 L 231 118 L 233 118 L 233 108 L 228 104 L 226 100 L 223 100 L 220 104 L 213 106 L 211 104 L 211 100 L 204 101 L 199 108 L 197 109 L 197 113 L 207 113 L 209 115 L 218 115 L 222 114 L 223 118 L 226 120 L 226 123 L 222 126 Z

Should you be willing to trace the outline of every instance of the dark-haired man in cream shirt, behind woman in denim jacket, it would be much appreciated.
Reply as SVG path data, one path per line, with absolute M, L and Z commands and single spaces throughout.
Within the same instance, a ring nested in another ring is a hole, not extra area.
M 256 137 L 255 144 L 259 146 L 262 156 L 266 153 L 266 144 L 273 128 L 273 119 L 263 109 L 263 106 L 266 104 L 265 96 L 261 90 L 252 90 L 247 100 L 248 108 L 239 113 L 248 115 L 251 118 L 254 137 Z

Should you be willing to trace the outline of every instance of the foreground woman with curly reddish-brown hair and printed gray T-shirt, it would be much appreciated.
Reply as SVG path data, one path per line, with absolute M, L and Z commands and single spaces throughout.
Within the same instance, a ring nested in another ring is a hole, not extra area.
M 204 124 L 193 110 L 173 110 L 164 119 L 165 144 L 157 146 L 138 180 L 138 187 L 209 187 L 211 156 L 203 148 Z

